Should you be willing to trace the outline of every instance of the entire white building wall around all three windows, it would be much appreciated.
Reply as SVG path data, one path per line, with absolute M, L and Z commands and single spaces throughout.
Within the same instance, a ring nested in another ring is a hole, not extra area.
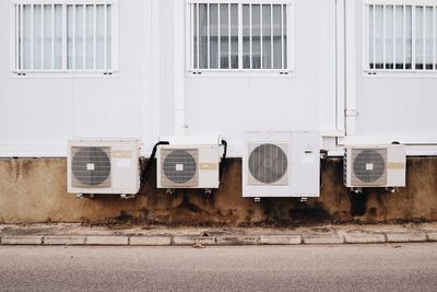
M 331 151 L 336 140 L 397 140 L 437 153 L 437 79 L 363 75 L 359 1 L 294 1 L 291 75 L 190 74 L 182 7 L 118 0 L 113 77 L 12 77 L 11 49 L 0 46 L 0 156 L 63 156 L 71 138 L 141 138 L 147 154 L 160 136 L 181 131 L 220 133 L 240 156 L 244 131 L 269 129 L 319 130 Z M 10 17 L 0 1 L 5 43 Z

